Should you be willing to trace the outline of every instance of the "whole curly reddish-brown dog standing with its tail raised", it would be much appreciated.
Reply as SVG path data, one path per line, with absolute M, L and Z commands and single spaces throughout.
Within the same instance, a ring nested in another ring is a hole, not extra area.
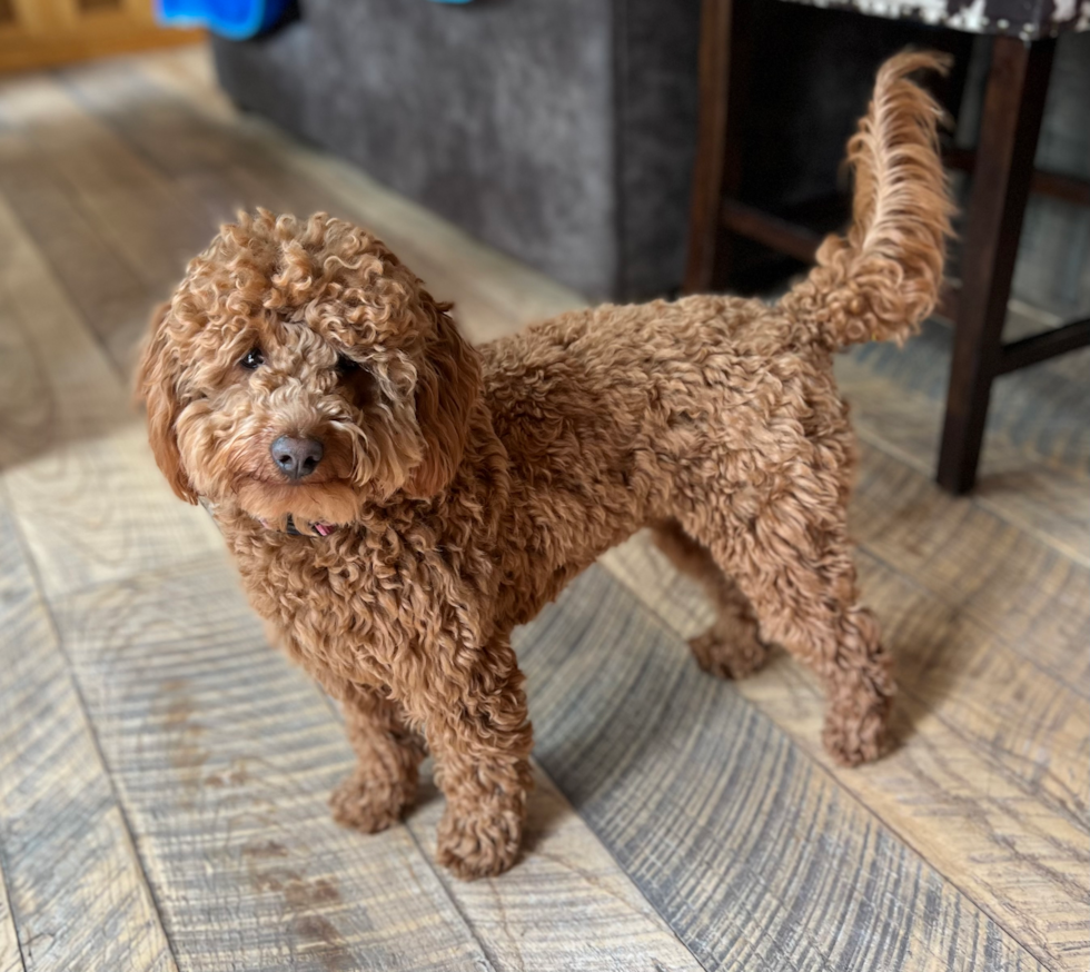
M 828 693 L 832 756 L 883 752 L 894 684 L 859 603 L 832 355 L 934 308 L 952 208 L 941 111 L 909 76 L 944 67 L 881 68 L 849 142 L 852 224 L 775 306 L 603 306 L 473 348 L 452 305 L 323 214 L 241 214 L 190 262 L 139 368 L 151 447 L 341 704 L 339 822 L 396 822 L 429 750 L 439 862 L 509 867 L 532 782 L 512 628 L 644 527 L 714 603 L 702 667 L 741 678 L 780 644 Z

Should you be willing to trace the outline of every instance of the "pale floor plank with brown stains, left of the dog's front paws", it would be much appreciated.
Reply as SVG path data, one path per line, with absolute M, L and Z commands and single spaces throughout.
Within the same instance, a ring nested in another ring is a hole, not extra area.
M 184 968 L 490 968 L 403 827 L 333 822 L 350 750 L 226 564 L 56 611 Z

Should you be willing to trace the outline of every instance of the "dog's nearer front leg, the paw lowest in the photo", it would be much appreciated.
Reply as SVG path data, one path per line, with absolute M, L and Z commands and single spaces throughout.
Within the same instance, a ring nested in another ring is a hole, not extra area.
M 508 639 L 487 645 L 467 678 L 446 677 L 438 687 L 426 714 L 447 801 L 437 857 L 466 880 L 499 874 L 518 854 L 532 786 L 533 730 Z

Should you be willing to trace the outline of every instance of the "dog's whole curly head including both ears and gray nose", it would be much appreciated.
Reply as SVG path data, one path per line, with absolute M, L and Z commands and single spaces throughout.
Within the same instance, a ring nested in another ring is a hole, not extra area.
M 158 311 L 138 394 L 159 468 L 196 502 L 351 522 L 453 477 L 477 355 L 364 230 L 268 212 L 225 226 Z

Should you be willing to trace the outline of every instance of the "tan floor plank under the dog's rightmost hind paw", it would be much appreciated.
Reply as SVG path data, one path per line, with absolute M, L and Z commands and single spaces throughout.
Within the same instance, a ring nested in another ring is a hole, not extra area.
M 953 543 L 950 533 L 940 536 Z M 677 578 L 648 539 L 604 563 L 678 633 L 691 636 L 710 622 L 701 592 Z M 822 693 L 786 657 L 737 691 L 1041 961 L 1086 964 L 1086 696 L 957 601 L 908 582 L 866 551 L 859 563 L 865 599 L 899 662 L 901 747 L 873 766 L 834 767 L 820 745 Z M 1013 619 L 1020 612 L 1012 608 Z M 1082 654 L 1072 645 L 1072 664 Z

